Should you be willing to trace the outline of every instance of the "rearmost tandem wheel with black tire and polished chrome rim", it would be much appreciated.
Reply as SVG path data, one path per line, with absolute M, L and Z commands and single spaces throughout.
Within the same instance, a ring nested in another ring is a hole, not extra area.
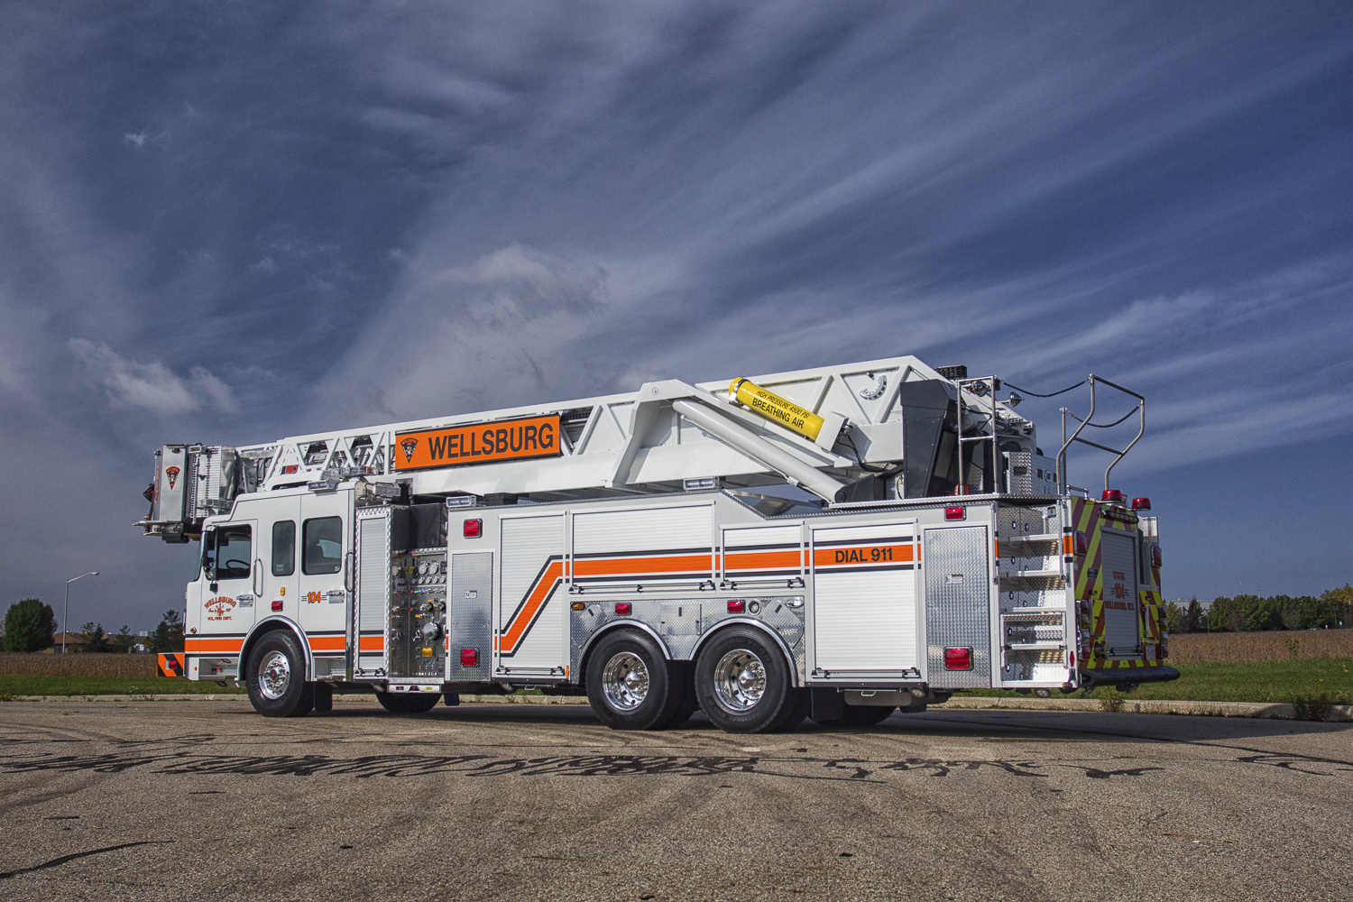
M 727 733 L 769 733 L 800 703 L 779 648 L 747 626 L 729 627 L 701 649 L 695 695 L 705 717 Z

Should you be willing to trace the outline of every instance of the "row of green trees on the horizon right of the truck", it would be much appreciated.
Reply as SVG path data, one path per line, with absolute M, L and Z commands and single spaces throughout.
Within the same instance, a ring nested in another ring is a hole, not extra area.
M 1168 602 L 1170 633 L 1241 633 L 1260 630 L 1339 629 L 1353 626 L 1353 586 L 1315 595 L 1218 596 L 1203 609 L 1195 598 Z

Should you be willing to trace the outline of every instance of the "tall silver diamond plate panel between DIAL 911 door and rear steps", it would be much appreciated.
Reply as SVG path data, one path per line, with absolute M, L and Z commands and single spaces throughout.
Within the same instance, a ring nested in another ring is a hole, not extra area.
M 985 526 L 925 530 L 925 636 L 931 686 L 992 684 L 990 567 Z M 944 669 L 946 648 L 973 649 L 973 669 Z

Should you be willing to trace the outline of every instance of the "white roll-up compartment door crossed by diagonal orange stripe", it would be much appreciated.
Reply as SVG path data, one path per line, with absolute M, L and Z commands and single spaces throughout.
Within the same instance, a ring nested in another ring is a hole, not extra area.
M 564 517 L 503 517 L 499 522 L 494 675 L 563 678 L 568 664 Z

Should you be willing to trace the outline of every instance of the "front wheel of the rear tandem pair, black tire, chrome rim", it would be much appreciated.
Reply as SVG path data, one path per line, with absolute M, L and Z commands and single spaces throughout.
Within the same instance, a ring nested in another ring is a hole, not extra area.
M 587 701 L 613 730 L 660 730 L 681 710 L 679 672 L 644 633 L 610 633 L 587 659 Z

